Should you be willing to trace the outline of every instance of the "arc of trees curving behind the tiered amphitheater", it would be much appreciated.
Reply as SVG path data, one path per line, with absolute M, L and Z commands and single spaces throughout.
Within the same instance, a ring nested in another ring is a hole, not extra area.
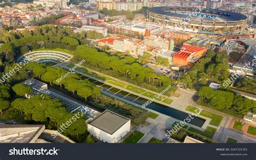
M 6 44 L 0 48 L 1 60 L 12 64 L 14 59 L 21 55 L 20 53 L 24 54 L 41 47 L 75 50 L 80 41 L 85 41 L 85 37 L 80 37 L 80 34 L 73 33 L 66 27 L 45 25 L 37 27 L 33 32 L 28 30 L 22 33 L 5 32 L 2 40 Z

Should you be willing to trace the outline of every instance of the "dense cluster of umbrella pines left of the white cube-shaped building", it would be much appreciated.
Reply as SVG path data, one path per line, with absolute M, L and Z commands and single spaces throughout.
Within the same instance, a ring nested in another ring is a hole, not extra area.
M 70 113 L 60 100 L 51 99 L 49 95 L 43 95 L 43 98 L 41 95 L 35 95 L 30 99 L 17 98 L 11 102 L 11 106 L 20 110 L 26 121 L 48 124 L 47 128 L 58 129 L 65 135 L 77 135 L 77 139 L 79 134 L 86 133 L 86 115 L 84 114 L 73 121 L 68 128 L 61 127 L 75 115 Z

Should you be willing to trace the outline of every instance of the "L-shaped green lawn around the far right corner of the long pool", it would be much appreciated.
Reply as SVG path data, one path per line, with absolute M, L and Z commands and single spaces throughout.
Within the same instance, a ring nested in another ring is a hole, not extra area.
M 192 107 L 192 106 L 188 106 L 186 108 L 186 110 L 190 111 L 190 112 L 193 112 L 193 113 L 196 113 L 196 107 Z M 210 124 L 213 125 L 213 126 L 216 126 L 218 127 L 221 120 L 223 119 L 223 116 L 220 116 L 218 114 L 214 114 L 214 113 L 211 113 L 211 112 L 207 112 L 205 110 L 203 110 L 201 113 L 200 113 L 201 116 L 205 116 L 205 117 L 208 117 L 209 119 L 212 119 Z

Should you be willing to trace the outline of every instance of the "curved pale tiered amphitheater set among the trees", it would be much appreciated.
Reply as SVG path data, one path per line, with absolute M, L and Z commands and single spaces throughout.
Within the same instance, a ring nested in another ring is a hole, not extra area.
M 18 59 L 18 62 L 29 60 L 38 63 L 56 62 L 59 64 L 65 61 L 69 61 L 72 57 L 73 55 L 60 51 L 34 51 L 22 55 L 22 57 Z

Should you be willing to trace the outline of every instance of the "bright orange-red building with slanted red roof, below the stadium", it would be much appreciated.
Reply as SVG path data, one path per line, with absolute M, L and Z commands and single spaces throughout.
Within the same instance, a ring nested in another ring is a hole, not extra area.
M 206 52 L 206 48 L 184 44 L 181 50 L 173 55 L 172 63 L 181 66 L 192 65 Z

